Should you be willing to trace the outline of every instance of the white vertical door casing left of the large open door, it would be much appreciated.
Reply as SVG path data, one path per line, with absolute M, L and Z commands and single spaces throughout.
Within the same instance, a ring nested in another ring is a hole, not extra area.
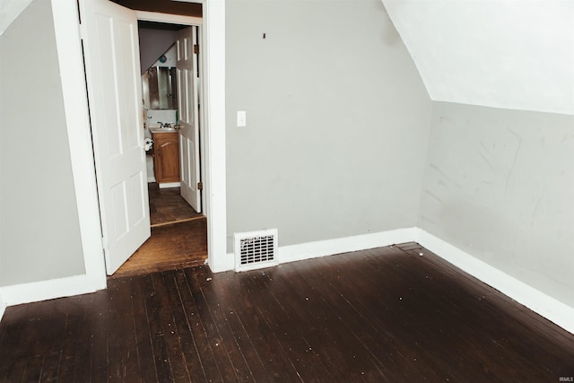
M 88 105 L 83 79 L 83 53 L 80 43 L 77 5 L 74 0 L 52 0 L 57 55 L 62 81 L 80 235 L 82 237 L 85 278 L 73 278 L 71 290 L 82 293 L 106 288 L 106 270 L 100 229 L 100 206 L 91 148 Z M 48 281 L 47 281 L 48 282 Z M 6 298 L 10 304 L 10 300 Z

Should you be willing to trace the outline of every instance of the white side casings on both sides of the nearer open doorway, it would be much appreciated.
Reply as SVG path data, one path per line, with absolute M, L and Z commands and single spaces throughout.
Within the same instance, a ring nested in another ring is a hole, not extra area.
M 224 271 L 227 256 L 225 185 L 225 1 L 204 0 L 204 208 L 207 216 L 208 262 Z M 75 293 L 106 286 L 100 212 L 96 190 L 87 92 L 83 79 L 81 28 L 75 0 L 52 0 L 65 119 L 83 243 L 85 277 Z M 75 281 L 75 279 L 74 279 Z

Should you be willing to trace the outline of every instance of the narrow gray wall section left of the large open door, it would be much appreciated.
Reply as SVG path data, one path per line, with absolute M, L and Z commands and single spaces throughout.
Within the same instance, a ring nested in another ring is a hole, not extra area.
M 51 12 L 0 36 L 0 286 L 85 273 Z

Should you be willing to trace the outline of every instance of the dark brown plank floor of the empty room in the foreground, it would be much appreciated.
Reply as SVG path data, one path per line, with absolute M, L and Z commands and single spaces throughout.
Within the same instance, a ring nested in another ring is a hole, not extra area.
M 574 335 L 413 243 L 240 274 L 117 278 L 9 307 L 0 323 L 5 382 L 572 377 Z

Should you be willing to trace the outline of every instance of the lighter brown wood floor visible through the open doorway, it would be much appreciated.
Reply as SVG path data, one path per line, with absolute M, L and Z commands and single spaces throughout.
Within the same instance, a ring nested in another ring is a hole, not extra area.
M 207 222 L 179 195 L 179 187 L 148 184 L 152 236 L 137 249 L 114 278 L 204 265 Z

